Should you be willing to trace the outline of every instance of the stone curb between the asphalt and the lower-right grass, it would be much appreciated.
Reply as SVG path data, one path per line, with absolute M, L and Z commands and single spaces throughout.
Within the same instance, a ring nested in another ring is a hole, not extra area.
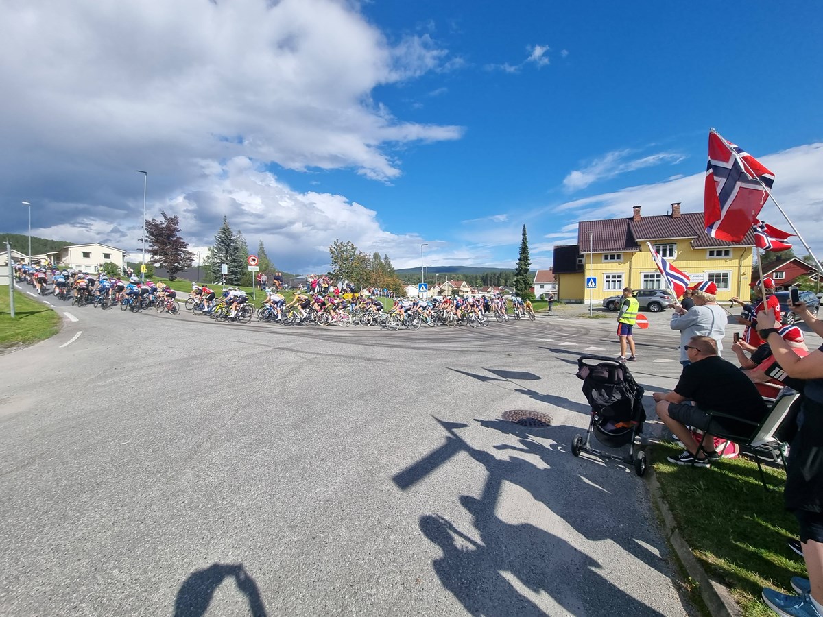
M 722 617 L 742 617 L 743 612 L 737 602 L 732 599 L 732 594 L 729 593 L 728 588 L 709 578 L 695 554 L 691 552 L 690 546 L 686 544 L 686 540 L 683 540 L 680 531 L 677 531 L 674 515 L 672 515 L 672 511 L 668 508 L 666 502 L 663 501 L 663 494 L 657 476 L 655 476 L 653 469 L 649 469 L 649 471 L 651 471 L 649 474 L 649 493 L 663 517 L 666 539 L 677 553 L 683 567 L 686 568 L 686 573 L 700 585 L 700 597 L 709 607 L 709 612 L 711 615 Z

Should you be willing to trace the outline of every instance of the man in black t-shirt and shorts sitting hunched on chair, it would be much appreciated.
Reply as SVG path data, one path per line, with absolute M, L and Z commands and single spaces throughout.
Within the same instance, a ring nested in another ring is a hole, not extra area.
M 714 339 L 692 336 L 685 347 L 691 364 L 683 369 L 674 391 L 666 394 L 654 392 L 653 397 L 660 420 L 686 447 L 680 456 L 668 457 L 668 460 L 678 465 L 708 467 L 711 461 L 719 458 L 718 453 L 714 452 L 712 429 L 741 437 L 756 430 L 755 424 L 727 418 L 712 420 L 709 426 L 708 411 L 734 415 L 759 424 L 769 410 L 746 374 L 717 355 Z M 689 400 L 695 404 L 686 403 Z M 687 427 L 706 433 L 704 452 L 697 452 L 697 442 Z

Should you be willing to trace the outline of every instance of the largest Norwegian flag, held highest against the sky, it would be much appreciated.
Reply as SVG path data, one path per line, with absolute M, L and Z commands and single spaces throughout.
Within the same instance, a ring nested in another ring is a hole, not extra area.
M 774 174 L 754 156 L 709 131 L 703 216 L 706 233 L 727 242 L 740 242 L 757 220 Z

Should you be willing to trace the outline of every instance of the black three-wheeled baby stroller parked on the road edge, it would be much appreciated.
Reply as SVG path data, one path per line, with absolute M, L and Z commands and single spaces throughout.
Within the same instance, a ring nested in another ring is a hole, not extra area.
M 597 364 L 589 363 L 593 360 Z M 590 452 L 599 457 L 623 461 L 635 466 L 638 476 L 646 472 L 646 453 L 635 454 L 635 439 L 643 432 L 646 412 L 643 408 L 643 387 L 640 387 L 621 360 L 600 355 L 582 355 L 577 360 L 577 376 L 583 379 L 583 393 L 592 406 L 586 438 L 575 435 L 571 453 Z M 591 434 L 608 448 L 629 447 L 625 457 L 609 454 L 592 447 Z

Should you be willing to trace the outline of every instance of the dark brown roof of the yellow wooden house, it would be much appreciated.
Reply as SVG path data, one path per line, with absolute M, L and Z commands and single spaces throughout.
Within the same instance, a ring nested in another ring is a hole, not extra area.
M 592 232 L 591 248 L 588 232 Z M 706 234 L 703 212 L 683 212 L 679 217 L 670 214 L 632 218 L 581 220 L 578 224 L 577 242 L 583 253 L 636 253 L 640 243 L 646 240 L 691 239 L 694 248 L 728 246 L 754 246 L 751 230 L 741 242 L 726 242 Z

